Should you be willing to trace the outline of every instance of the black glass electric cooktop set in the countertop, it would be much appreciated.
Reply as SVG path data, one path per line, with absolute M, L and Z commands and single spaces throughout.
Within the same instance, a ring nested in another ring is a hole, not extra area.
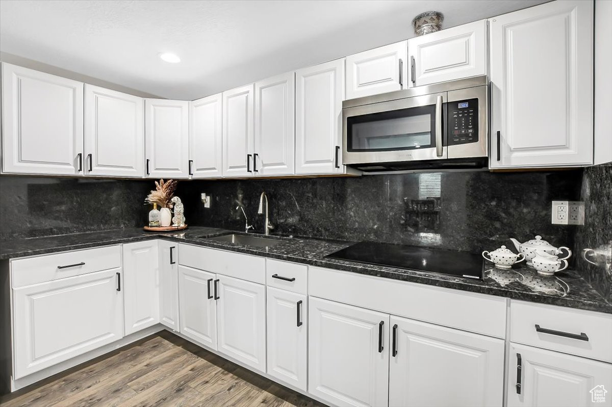
M 327 257 L 479 280 L 484 267 L 479 254 L 389 243 L 360 242 Z

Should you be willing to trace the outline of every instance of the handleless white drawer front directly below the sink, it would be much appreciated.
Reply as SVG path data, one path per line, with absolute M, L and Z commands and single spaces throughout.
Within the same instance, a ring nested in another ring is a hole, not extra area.
M 179 244 L 179 264 L 253 283 L 266 284 L 266 259 L 259 256 Z

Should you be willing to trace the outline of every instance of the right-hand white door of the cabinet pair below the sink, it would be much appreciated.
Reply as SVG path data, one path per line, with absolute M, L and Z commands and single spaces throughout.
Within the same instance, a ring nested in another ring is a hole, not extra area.
M 218 351 L 266 372 L 266 286 L 217 277 Z

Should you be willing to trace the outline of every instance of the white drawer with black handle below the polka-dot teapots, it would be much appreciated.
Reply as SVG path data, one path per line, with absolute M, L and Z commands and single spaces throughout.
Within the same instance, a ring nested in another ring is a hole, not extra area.
M 512 300 L 510 340 L 612 362 L 612 315 Z

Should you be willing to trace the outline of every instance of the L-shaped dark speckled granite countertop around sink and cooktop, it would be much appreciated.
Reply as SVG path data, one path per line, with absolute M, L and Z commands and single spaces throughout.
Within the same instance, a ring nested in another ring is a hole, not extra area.
M 345 248 L 353 242 L 270 236 L 273 239 L 280 240 L 280 243 L 270 247 L 254 247 L 206 240 L 208 237 L 232 232 L 234 231 L 190 226 L 187 230 L 179 233 L 148 233 L 141 229 L 128 228 L 35 237 L 0 242 L 0 260 L 162 238 L 170 241 L 265 256 L 278 260 L 294 261 L 312 266 L 394 278 L 395 280 L 406 282 L 461 289 L 472 293 L 490 294 L 522 301 L 612 313 L 612 304 L 606 302 L 576 271 L 566 270 L 552 277 L 543 277 L 526 266 L 515 266 L 512 269 L 497 269 L 493 267 L 493 264 L 487 263 L 485 265 L 485 278 L 483 281 L 479 281 L 326 258 L 330 253 Z

